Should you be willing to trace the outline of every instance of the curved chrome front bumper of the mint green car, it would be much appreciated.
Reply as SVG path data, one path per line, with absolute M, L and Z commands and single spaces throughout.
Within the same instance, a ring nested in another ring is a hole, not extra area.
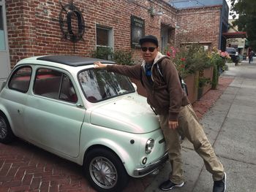
M 165 153 L 165 155 L 162 156 L 162 158 L 159 158 L 157 161 L 152 162 L 151 164 L 148 164 L 147 166 L 144 166 L 143 168 L 138 168 L 134 170 L 134 175 L 136 176 L 144 176 L 146 174 L 150 174 L 151 172 L 154 172 L 155 169 L 157 169 L 159 166 L 165 163 L 168 159 L 168 153 Z

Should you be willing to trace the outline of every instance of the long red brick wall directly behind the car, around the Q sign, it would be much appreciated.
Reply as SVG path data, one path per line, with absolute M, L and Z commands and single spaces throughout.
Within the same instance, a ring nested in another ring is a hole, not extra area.
M 63 0 L 62 4 L 70 1 Z M 88 0 L 74 1 L 83 14 L 86 32 L 83 40 L 73 43 L 61 38 L 59 12 L 61 5 L 57 0 L 7 0 L 7 28 L 10 42 L 11 65 L 21 58 L 45 54 L 76 54 L 90 56 L 96 47 L 96 24 L 113 28 L 114 49 L 131 50 L 130 48 L 130 16 L 135 15 L 145 20 L 145 33 L 159 37 L 162 21 L 173 25 L 176 18 L 175 9 L 162 1 L 123 0 Z M 167 15 L 151 17 L 148 8 L 163 7 Z M 134 50 L 135 58 L 139 51 Z

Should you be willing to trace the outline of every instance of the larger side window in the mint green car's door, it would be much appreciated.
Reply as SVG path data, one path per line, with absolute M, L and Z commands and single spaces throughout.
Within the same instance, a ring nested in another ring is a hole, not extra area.
M 51 99 L 69 102 L 78 101 L 71 80 L 62 72 L 53 69 L 38 69 L 34 81 L 34 93 Z

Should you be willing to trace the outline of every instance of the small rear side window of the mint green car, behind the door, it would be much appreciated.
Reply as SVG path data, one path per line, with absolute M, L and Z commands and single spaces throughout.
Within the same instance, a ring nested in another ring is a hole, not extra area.
M 15 70 L 10 78 L 8 87 L 15 91 L 26 93 L 29 90 L 32 69 L 30 66 L 22 66 Z

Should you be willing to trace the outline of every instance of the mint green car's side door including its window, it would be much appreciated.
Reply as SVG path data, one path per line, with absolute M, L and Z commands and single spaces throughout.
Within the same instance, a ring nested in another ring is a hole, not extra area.
M 67 74 L 37 69 L 24 116 L 29 140 L 53 153 L 78 156 L 85 110 L 77 103 L 78 95 Z

